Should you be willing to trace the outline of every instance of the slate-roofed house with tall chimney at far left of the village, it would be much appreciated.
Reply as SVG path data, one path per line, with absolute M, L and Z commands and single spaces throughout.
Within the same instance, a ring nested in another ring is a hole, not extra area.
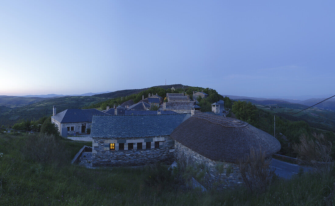
M 85 134 L 87 128 L 91 128 L 93 115 L 106 115 L 97 109 L 66 109 L 56 114 L 56 106 L 53 107 L 51 122 L 56 125 L 62 137 L 73 134 Z

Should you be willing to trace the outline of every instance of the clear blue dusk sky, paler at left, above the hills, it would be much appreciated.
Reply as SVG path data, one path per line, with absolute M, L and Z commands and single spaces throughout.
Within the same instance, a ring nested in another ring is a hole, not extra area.
M 334 94 L 335 1 L 0 1 L 0 95 Z

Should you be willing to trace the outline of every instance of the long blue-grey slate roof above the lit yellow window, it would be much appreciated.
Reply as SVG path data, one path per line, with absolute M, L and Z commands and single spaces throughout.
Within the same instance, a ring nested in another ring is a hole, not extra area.
M 170 135 L 189 114 L 94 115 L 93 138 L 134 138 Z

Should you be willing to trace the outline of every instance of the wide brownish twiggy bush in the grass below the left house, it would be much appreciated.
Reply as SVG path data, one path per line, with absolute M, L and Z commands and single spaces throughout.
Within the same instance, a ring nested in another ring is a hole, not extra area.
M 21 152 L 27 161 L 33 160 L 41 164 L 61 165 L 69 159 L 65 145 L 50 135 L 28 136 Z

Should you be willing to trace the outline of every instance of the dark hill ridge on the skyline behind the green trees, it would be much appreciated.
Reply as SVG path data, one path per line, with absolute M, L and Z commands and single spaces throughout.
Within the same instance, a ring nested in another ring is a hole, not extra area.
M 162 88 L 162 89 L 166 90 L 166 89 L 171 89 L 172 87 L 175 88 L 175 89 L 186 89 L 189 86 L 185 86 L 185 85 L 182 85 L 182 84 L 176 84 L 176 85 L 160 85 L 160 86 L 155 86 L 155 87 Z M 102 97 L 102 98 L 126 97 L 126 96 L 130 96 L 132 94 L 138 94 L 142 91 L 148 90 L 149 88 L 151 88 L 151 87 L 143 88 L 143 89 L 119 90 L 119 91 L 110 92 L 110 93 L 96 94 L 96 95 L 93 95 L 93 97 Z

